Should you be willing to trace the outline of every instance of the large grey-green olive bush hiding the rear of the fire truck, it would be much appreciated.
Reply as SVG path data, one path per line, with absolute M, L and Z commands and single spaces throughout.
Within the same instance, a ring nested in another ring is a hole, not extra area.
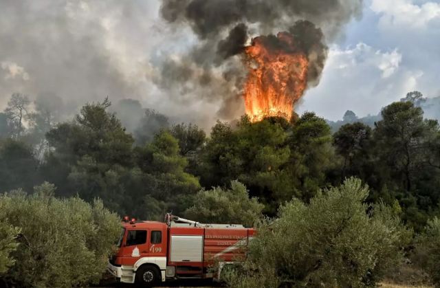
M 397 264 L 410 232 L 391 209 L 369 210 L 369 189 L 358 179 L 318 192 L 305 204 L 282 206 L 250 244 L 244 273 L 231 287 L 365 287 Z

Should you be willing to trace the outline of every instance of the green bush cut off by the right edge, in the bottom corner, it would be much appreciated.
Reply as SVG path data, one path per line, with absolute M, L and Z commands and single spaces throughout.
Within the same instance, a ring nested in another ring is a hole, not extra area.
M 417 262 L 436 285 L 440 285 L 440 219 L 429 220 L 416 240 Z

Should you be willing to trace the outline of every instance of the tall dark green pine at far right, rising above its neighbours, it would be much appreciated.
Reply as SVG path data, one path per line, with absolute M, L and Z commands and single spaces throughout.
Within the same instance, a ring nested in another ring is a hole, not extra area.
M 388 105 L 382 118 L 373 135 L 377 181 L 372 185 L 394 192 L 403 208 L 403 219 L 421 230 L 440 200 L 440 169 L 433 164 L 439 159 L 434 152 L 439 124 L 423 120 L 423 111 L 412 102 Z

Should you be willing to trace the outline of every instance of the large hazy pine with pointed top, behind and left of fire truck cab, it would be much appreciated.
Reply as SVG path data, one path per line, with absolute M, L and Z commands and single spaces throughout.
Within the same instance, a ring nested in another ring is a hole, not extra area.
M 133 170 L 134 140 L 107 111 L 110 104 L 107 99 L 86 104 L 74 122 L 57 124 L 47 133 L 52 151 L 45 157 L 42 174 L 60 187 L 58 195 L 78 193 L 86 201 L 100 197 L 107 207 L 126 213 L 135 203 L 132 194 L 140 190 L 133 184 L 139 183 Z

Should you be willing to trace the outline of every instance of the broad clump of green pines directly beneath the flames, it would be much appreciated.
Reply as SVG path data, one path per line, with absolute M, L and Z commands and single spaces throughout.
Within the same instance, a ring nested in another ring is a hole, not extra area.
M 236 129 L 221 122 L 212 128 L 199 175 L 204 186 L 238 179 L 265 203 L 265 212 L 275 214 L 283 201 L 307 200 L 325 186 L 332 157 L 330 128 L 314 113 L 293 126 L 279 118 L 251 123 L 244 117 Z

